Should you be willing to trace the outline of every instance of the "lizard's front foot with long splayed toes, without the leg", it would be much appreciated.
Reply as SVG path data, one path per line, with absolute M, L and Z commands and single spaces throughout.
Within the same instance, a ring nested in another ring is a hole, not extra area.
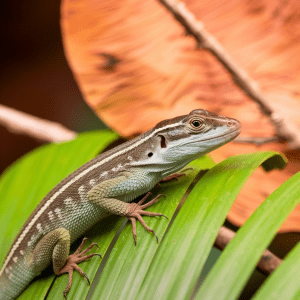
M 132 224 L 132 233 L 133 233 L 133 239 L 134 239 L 135 245 L 136 245 L 136 219 L 138 219 L 140 221 L 140 223 L 143 225 L 143 227 L 147 231 L 150 231 L 155 235 L 157 242 L 158 242 L 158 237 L 157 237 L 156 233 L 154 232 L 153 229 L 151 229 L 150 227 L 147 226 L 147 224 L 145 223 L 145 221 L 142 218 L 142 215 L 165 217 L 168 219 L 168 217 L 163 214 L 143 210 L 144 208 L 147 208 L 150 205 L 157 202 L 159 197 L 161 197 L 161 196 L 165 197 L 164 195 L 160 194 L 160 195 L 156 196 L 154 199 L 152 199 L 151 201 L 149 201 L 148 203 L 142 205 L 150 195 L 151 195 L 151 193 L 148 192 L 146 194 L 146 196 L 142 200 L 140 200 L 138 203 L 130 203 L 126 210 L 126 213 L 125 213 L 125 217 L 127 217 L 131 221 L 131 224 Z

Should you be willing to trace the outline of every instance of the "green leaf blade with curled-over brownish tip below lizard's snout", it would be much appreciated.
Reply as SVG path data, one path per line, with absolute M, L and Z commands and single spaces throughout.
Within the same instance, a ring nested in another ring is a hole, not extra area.
M 146 277 L 140 279 L 135 299 L 187 299 L 191 295 L 237 194 L 259 165 L 266 163 L 270 169 L 270 158 L 273 168 L 284 166 L 283 157 L 273 151 L 239 155 L 221 162 L 197 183 L 159 245 Z

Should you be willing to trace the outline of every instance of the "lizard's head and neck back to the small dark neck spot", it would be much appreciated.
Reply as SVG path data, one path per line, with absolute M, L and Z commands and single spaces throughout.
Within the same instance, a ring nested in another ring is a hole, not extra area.
M 197 157 L 239 135 L 239 121 L 197 109 L 158 123 L 145 134 L 137 166 L 148 166 L 163 176 L 176 172 Z

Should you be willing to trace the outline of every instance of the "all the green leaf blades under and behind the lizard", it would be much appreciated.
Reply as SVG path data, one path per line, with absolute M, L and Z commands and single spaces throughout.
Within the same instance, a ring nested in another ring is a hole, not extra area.
M 47 145 L 24 156 L 2 175 L 1 262 L 21 226 L 47 192 L 116 137 L 110 131 L 102 131 L 81 134 L 68 143 Z M 260 165 L 266 170 L 283 168 L 285 160 L 272 151 L 257 152 L 234 156 L 214 166 L 208 157 L 202 157 L 191 163 L 193 171 L 178 182 L 155 188 L 153 195 L 162 193 L 166 199 L 149 210 L 165 214 L 170 221 L 144 219 L 160 239 L 163 237 L 159 244 L 139 223 L 134 246 L 131 224 L 125 225 L 123 218 L 101 222 L 86 236 L 99 244 L 97 252 L 104 258 L 94 257 L 80 265 L 92 286 L 74 273 L 68 298 L 189 299 L 194 293 L 196 299 L 237 299 L 260 255 L 300 202 L 298 173 L 256 210 L 223 251 L 200 289 L 193 291 L 233 201 Z M 210 170 L 203 176 L 204 169 Z M 299 252 L 299 246 L 295 247 L 266 280 L 255 300 L 299 298 Z M 32 295 L 34 299 L 43 299 L 47 292 L 48 299 L 62 299 L 67 281 L 67 275 L 56 278 L 43 274 L 19 299 Z

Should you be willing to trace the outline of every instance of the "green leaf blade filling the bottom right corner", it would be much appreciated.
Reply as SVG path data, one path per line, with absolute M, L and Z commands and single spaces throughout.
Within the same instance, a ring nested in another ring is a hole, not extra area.
M 300 299 L 300 243 L 258 290 L 253 300 Z

